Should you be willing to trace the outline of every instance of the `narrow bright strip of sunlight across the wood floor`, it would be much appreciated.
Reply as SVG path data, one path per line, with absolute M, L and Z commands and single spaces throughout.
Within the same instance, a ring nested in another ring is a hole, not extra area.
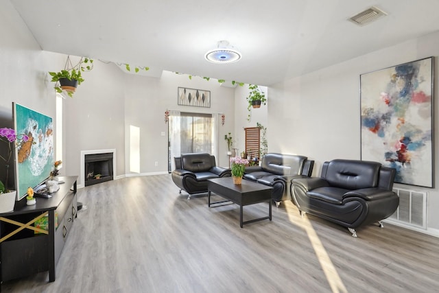
M 307 232 L 309 242 L 311 242 L 311 245 L 313 246 L 314 251 L 316 252 L 316 256 L 318 258 L 318 261 L 320 262 L 320 266 L 322 266 L 324 274 L 327 276 L 327 280 L 329 285 L 331 286 L 332 292 L 347 293 L 348 291 L 344 287 L 342 279 L 340 279 L 340 276 L 338 275 L 337 270 L 335 269 L 331 261 L 331 258 L 327 253 L 327 250 L 324 249 L 324 246 L 320 241 L 313 226 L 311 225 L 311 222 L 309 222 L 307 215 L 305 215 L 305 217 L 300 219 L 301 222 L 297 222 L 294 221 L 292 217 L 292 213 L 298 213 L 296 207 L 292 207 L 286 202 L 285 209 L 287 210 L 289 221 L 295 225 L 300 226 Z

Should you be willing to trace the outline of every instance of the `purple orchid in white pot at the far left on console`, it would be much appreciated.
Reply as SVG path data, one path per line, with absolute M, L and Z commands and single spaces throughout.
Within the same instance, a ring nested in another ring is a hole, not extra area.
M 8 154 L 1 156 L 0 159 L 5 162 L 6 178 L 5 183 L 0 180 L 0 213 L 7 213 L 14 210 L 16 191 L 8 188 L 9 183 L 9 164 L 12 156 L 12 151 L 15 148 L 21 147 L 21 145 L 29 140 L 26 134 L 16 135 L 15 130 L 12 128 L 0 128 L 0 141 L 8 143 Z M 32 141 L 32 143 L 34 143 Z

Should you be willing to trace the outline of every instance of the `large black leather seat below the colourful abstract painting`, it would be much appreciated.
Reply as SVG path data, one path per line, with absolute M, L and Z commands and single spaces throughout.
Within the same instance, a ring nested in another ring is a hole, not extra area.
M 324 162 L 320 178 L 295 178 L 292 196 L 300 213 L 317 215 L 348 228 L 379 222 L 396 211 L 392 191 L 396 171 L 381 163 L 336 159 Z

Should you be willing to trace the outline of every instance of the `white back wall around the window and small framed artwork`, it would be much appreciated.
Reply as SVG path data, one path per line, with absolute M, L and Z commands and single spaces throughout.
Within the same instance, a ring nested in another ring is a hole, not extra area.
M 178 106 L 177 89 L 185 87 L 211 91 L 211 107 Z M 226 121 L 219 121 L 217 165 L 228 166 L 227 142 L 224 134 L 233 132 L 235 125 L 234 90 L 220 86 L 215 79 L 209 81 L 194 76 L 163 71 L 161 78 L 146 78 L 141 75 L 126 75 L 125 128 L 130 125 L 141 128 L 141 174 L 167 172 L 168 125 L 165 124 L 165 110 L 182 110 L 196 113 L 224 113 Z M 165 132 L 165 136 L 161 136 Z M 128 139 L 128 137 L 126 137 Z M 126 150 L 126 164 L 129 163 L 129 149 Z M 158 166 L 155 166 L 158 162 Z M 126 167 L 129 174 L 129 167 Z

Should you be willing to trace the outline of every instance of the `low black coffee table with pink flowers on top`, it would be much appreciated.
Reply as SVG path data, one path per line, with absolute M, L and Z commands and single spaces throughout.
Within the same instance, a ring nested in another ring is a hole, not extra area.
M 267 219 L 270 221 L 272 220 L 272 187 L 268 187 L 259 183 L 254 183 L 248 180 L 242 180 L 241 185 L 235 185 L 231 177 L 214 178 L 207 181 L 208 206 L 211 207 L 211 204 L 219 204 L 215 205 L 215 207 L 220 207 L 224 205 L 220 203 L 230 201 L 234 202 L 235 204 L 239 204 L 239 224 L 241 228 L 244 224 Z M 217 194 L 218 196 L 221 196 L 222 198 L 225 198 L 226 200 L 211 202 L 211 192 Z M 243 207 L 249 204 L 257 204 L 259 202 L 268 202 L 268 217 L 257 218 L 243 222 Z

